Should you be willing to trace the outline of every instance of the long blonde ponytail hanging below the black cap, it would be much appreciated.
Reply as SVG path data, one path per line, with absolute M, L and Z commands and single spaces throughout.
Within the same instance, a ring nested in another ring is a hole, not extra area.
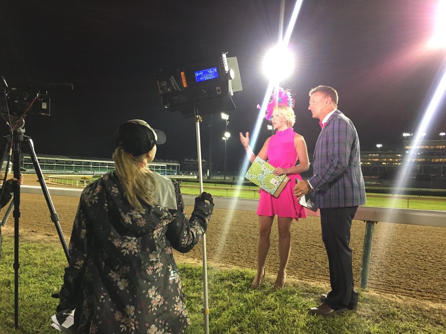
M 157 183 L 152 172 L 145 164 L 145 155 L 132 156 L 118 146 L 113 153 L 115 172 L 125 191 L 125 197 L 132 207 L 142 210 L 138 199 L 153 205 L 153 192 L 157 190 Z

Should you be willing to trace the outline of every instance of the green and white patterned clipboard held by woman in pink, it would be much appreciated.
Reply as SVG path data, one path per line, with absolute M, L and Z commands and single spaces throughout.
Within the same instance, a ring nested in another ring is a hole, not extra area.
M 278 197 L 286 183 L 288 183 L 289 177 L 286 175 L 274 175 L 274 169 L 275 167 L 256 157 L 246 172 L 245 178 L 258 185 L 264 191 L 268 191 L 271 195 Z

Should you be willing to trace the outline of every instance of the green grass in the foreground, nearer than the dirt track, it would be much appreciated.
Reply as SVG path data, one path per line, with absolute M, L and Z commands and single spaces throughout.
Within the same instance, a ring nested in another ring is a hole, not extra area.
M 56 333 L 50 327 L 57 300 L 51 294 L 62 284 L 66 259 L 60 244 L 22 240 L 20 245 L 20 330 L 14 330 L 13 239 L 4 236 L 0 260 L 0 333 Z M 203 333 L 202 268 L 179 265 L 186 305 L 192 324 L 187 333 Z M 437 306 L 427 308 L 403 304 L 363 291 L 359 309 L 332 318 L 307 314 L 317 304 L 321 287 L 287 283 L 273 289 L 271 279 L 249 288 L 254 272 L 247 269 L 218 269 L 210 266 L 210 332 L 220 333 L 446 333 L 446 315 Z

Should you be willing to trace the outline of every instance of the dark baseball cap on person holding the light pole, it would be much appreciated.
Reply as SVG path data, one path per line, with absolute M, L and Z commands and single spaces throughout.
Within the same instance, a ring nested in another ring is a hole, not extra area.
M 166 135 L 161 130 L 153 129 L 147 122 L 132 119 L 122 123 L 116 132 L 116 146 L 138 156 L 150 152 L 156 145 L 166 142 Z

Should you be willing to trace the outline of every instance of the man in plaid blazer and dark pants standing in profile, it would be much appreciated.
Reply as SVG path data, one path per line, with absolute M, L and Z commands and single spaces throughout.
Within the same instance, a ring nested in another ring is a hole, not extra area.
M 329 86 L 310 91 L 313 118 L 319 119 L 319 134 L 313 157 L 313 176 L 294 187 L 300 198 L 314 191 L 314 204 L 321 212 L 322 240 L 328 255 L 331 291 L 311 314 L 329 316 L 355 310 L 358 293 L 351 269 L 350 228 L 358 205 L 366 202 L 355 126 L 337 110 L 338 93 Z

